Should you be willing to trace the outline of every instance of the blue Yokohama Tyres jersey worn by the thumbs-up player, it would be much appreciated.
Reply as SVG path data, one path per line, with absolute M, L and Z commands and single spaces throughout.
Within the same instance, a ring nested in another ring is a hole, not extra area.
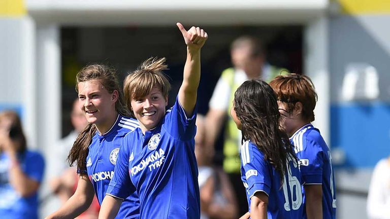
M 137 191 L 141 218 L 200 218 L 194 155 L 196 108 L 187 118 L 178 99 L 153 130 L 128 133 L 119 151 L 108 195 Z M 134 147 L 133 147 L 134 145 Z

